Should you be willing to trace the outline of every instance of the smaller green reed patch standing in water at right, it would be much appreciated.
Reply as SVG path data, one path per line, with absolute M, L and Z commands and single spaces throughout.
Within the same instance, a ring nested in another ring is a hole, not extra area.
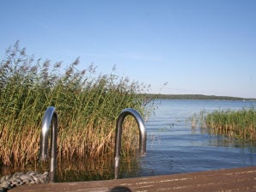
M 256 110 L 213 111 L 204 118 L 210 133 L 229 135 L 242 141 L 256 141 Z

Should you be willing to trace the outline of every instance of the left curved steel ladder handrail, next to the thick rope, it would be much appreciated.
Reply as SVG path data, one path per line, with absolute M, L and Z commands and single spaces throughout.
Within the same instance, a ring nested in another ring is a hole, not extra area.
M 48 140 L 51 126 L 51 155 L 50 155 L 50 182 L 54 181 L 57 157 L 57 135 L 58 135 L 58 116 L 55 107 L 49 106 L 46 109 L 42 122 L 42 132 L 40 135 L 40 160 L 45 161 L 48 151 Z

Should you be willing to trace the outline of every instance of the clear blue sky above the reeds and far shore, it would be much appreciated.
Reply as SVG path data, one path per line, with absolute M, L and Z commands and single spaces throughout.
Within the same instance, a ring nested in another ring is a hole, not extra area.
M 0 0 L 0 25 L 1 57 L 20 40 L 151 93 L 256 98 L 255 0 Z

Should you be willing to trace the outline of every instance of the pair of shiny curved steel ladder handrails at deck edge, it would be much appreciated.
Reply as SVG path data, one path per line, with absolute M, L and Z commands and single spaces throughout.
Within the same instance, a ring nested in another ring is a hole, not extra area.
M 134 109 L 126 108 L 121 111 L 117 119 L 116 124 L 116 136 L 115 136 L 115 156 L 114 156 L 114 177 L 117 179 L 119 177 L 119 159 L 121 150 L 121 136 L 122 136 L 122 126 L 125 117 L 131 115 L 136 119 L 137 126 L 139 128 L 139 151 L 138 156 L 143 157 L 146 154 L 146 139 L 147 132 L 145 124 L 143 122 L 143 117 Z M 42 131 L 40 135 L 40 160 L 45 161 L 47 159 L 48 151 L 48 140 L 51 127 L 51 155 L 50 155 L 50 182 L 54 181 L 55 171 L 56 171 L 56 160 L 57 160 L 57 136 L 58 136 L 58 115 L 55 107 L 49 106 L 46 109 L 45 116 L 42 122 Z

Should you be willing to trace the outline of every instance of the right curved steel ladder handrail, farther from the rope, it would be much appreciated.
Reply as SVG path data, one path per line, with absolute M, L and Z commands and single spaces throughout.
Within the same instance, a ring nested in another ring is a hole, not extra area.
M 133 116 L 139 128 L 139 153 L 140 157 L 145 156 L 146 154 L 146 138 L 147 131 L 145 128 L 145 124 L 143 122 L 143 117 L 140 114 L 131 108 L 126 108 L 121 111 L 117 120 L 116 126 L 116 137 L 115 137 L 115 156 L 114 156 L 114 178 L 117 179 L 119 177 L 119 161 L 120 161 L 120 150 L 121 150 L 121 137 L 122 137 L 122 125 L 124 123 L 125 117 L 131 115 Z

